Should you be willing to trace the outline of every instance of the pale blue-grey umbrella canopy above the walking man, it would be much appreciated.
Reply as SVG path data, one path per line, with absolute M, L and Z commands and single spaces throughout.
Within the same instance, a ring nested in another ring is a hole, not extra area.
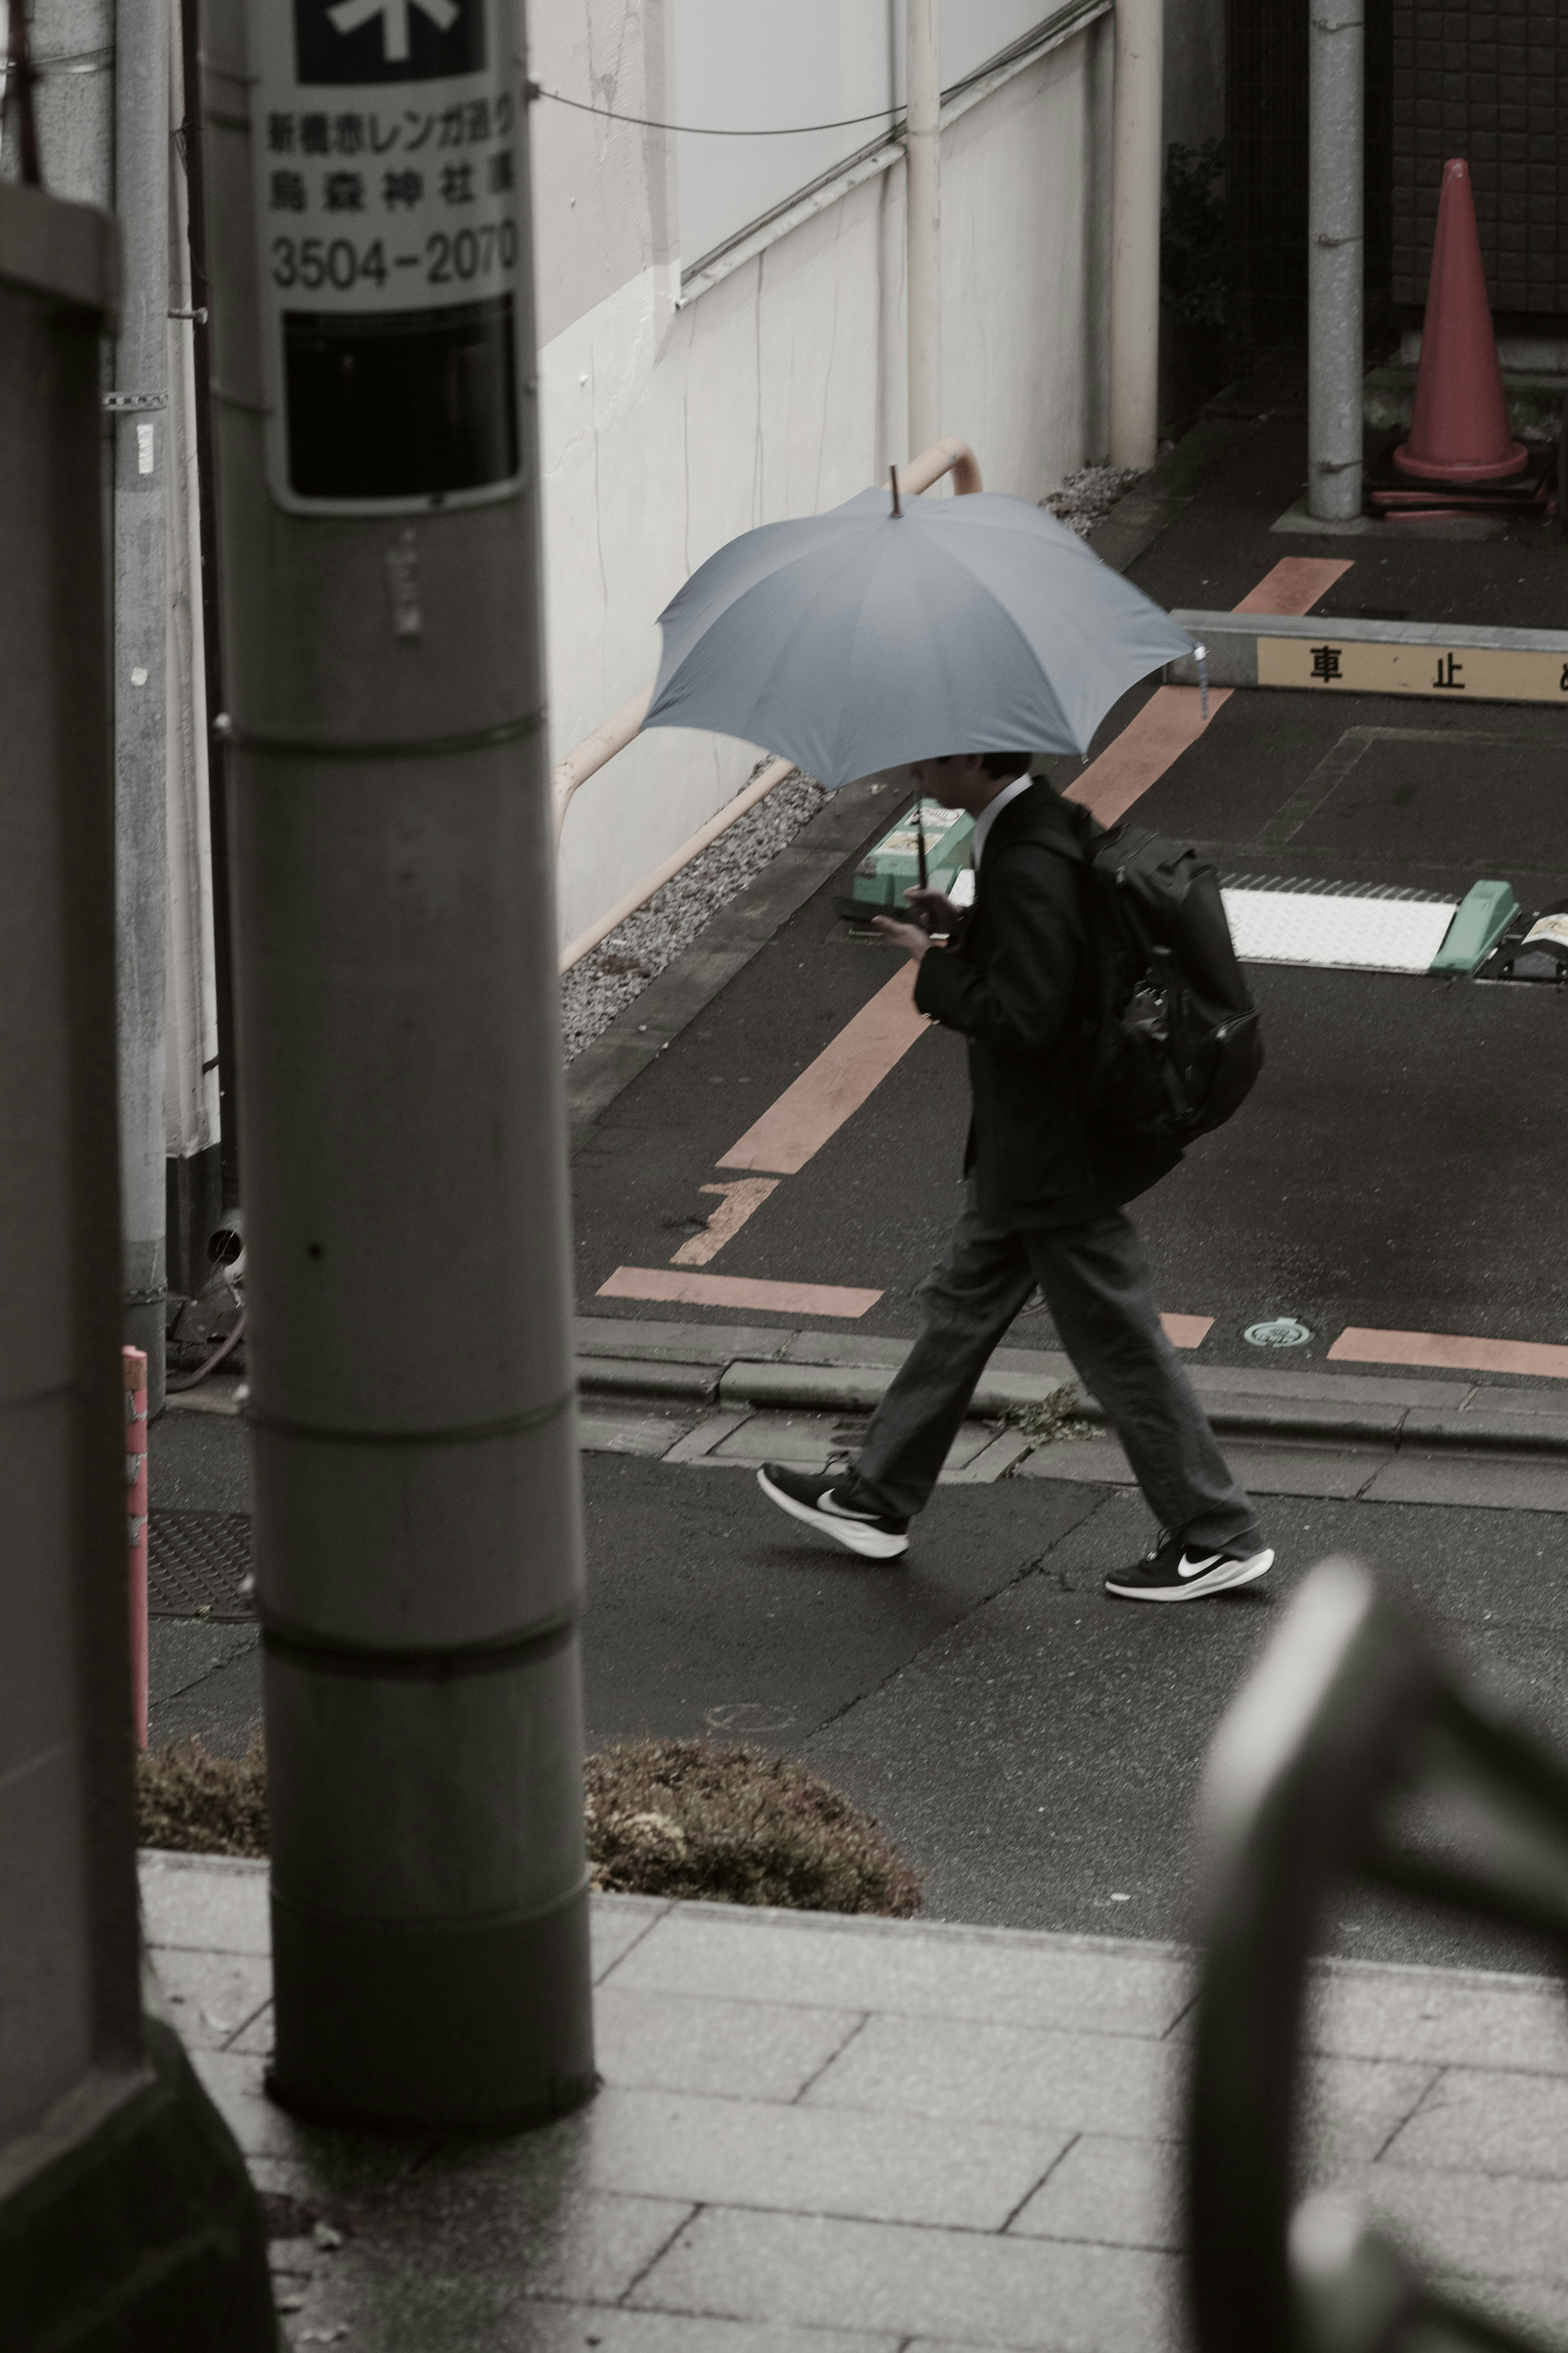
M 658 616 L 644 727 L 708 727 L 825 786 L 954 751 L 1077 751 L 1192 638 L 1025 499 L 863 489 L 764 522 Z

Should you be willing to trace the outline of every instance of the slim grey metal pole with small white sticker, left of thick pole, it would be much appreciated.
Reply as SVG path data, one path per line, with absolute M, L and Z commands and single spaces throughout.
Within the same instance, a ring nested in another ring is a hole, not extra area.
M 115 212 L 125 308 L 108 393 L 115 480 L 115 934 L 125 1341 L 165 1395 L 165 927 L 169 449 L 169 16 L 115 0 Z

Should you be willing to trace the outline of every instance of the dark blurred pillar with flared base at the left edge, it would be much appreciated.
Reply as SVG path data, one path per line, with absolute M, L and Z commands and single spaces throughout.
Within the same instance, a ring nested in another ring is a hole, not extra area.
M 99 475 L 115 282 L 106 212 L 0 181 L 0 2306 L 7 2353 L 270 2353 L 261 2207 L 139 1991 Z

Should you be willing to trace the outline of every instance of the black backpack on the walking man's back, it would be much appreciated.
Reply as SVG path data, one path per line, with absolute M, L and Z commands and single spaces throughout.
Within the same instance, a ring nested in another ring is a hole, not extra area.
M 1262 1071 L 1220 878 L 1159 833 L 1065 807 L 1086 875 L 1091 1125 L 1126 1144 L 1180 1148 L 1220 1127 Z

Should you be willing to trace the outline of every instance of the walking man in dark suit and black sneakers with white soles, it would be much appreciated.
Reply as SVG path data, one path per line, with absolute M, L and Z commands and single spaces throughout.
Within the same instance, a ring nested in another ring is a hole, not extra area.
M 1081 1111 L 1084 878 L 1072 819 L 1027 753 L 917 760 L 922 795 L 976 819 L 976 901 L 933 889 L 877 927 L 917 960 L 914 1005 L 969 1038 L 966 1200 L 922 1285 L 926 1327 L 877 1407 L 853 1471 L 764 1464 L 762 1492 L 867 1560 L 907 1551 L 985 1362 L 1034 1287 L 1105 1407 L 1150 1511 L 1154 1551 L 1105 1579 L 1121 1600 L 1190 1602 L 1262 1577 L 1274 1553 L 1229 1475 L 1171 1341 L 1124 1202 L 1180 1158 L 1107 1146 Z M 1056 847 L 1053 847 L 1056 845 Z

